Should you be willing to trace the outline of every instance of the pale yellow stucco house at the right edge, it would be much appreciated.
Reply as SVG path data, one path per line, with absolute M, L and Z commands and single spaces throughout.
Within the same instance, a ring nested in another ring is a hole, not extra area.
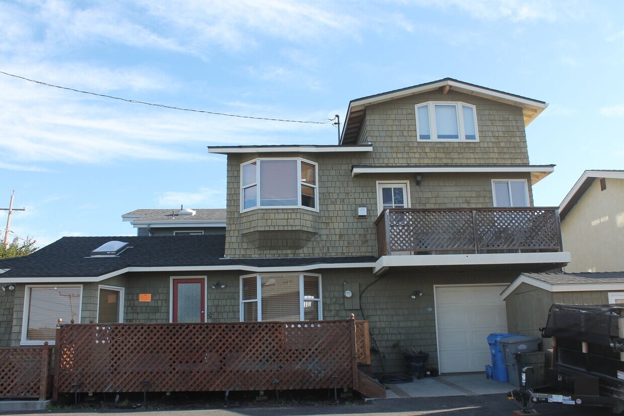
M 567 272 L 623 271 L 624 170 L 586 170 L 559 207 Z

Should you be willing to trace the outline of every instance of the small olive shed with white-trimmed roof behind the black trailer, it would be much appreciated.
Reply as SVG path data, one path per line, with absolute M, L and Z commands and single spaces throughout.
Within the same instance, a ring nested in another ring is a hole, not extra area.
M 542 336 L 553 303 L 602 305 L 624 303 L 624 272 L 524 273 L 503 291 L 509 332 Z M 552 346 L 544 339 L 544 349 Z

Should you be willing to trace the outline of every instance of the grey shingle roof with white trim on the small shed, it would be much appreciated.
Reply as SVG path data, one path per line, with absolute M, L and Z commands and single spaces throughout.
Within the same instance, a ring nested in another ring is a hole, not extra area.
M 624 290 L 624 271 L 595 273 L 522 273 L 500 294 L 509 296 L 520 284 L 527 283 L 549 292 Z

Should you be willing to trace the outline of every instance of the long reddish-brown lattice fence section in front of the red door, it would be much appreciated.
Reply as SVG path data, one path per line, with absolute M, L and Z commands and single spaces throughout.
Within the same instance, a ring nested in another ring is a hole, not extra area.
M 354 386 L 351 321 L 71 324 L 58 334 L 58 392 Z M 334 374 L 338 378 L 332 377 Z M 279 380 L 277 384 L 274 380 Z

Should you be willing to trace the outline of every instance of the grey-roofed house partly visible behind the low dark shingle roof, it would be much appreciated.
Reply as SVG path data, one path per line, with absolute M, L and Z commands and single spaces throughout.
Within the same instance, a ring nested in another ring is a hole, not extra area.
M 121 216 L 137 236 L 225 234 L 225 208 L 134 210 Z

